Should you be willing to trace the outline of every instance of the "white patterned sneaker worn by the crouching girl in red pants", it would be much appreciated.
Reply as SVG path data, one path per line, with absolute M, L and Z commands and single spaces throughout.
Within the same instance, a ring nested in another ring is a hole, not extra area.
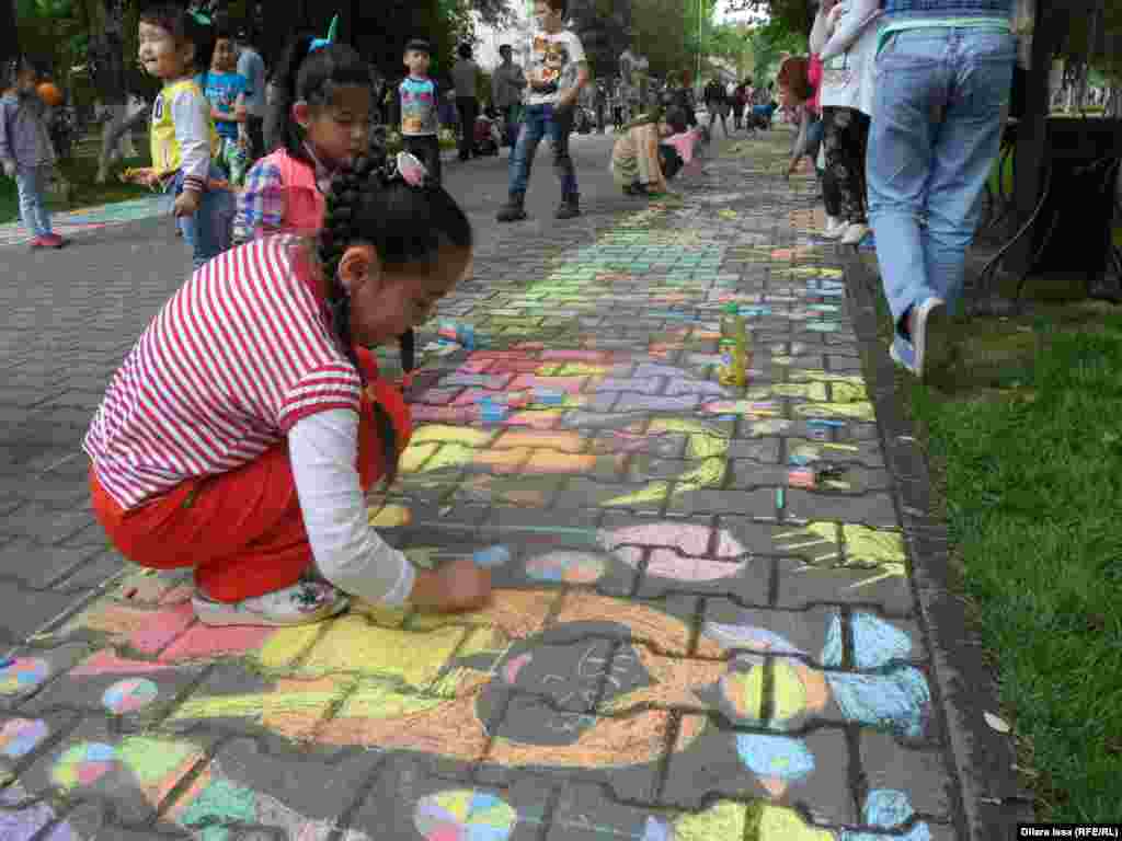
M 203 625 L 283 628 L 329 619 L 347 610 L 349 600 L 331 584 L 302 581 L 284 590 L 236 602 L 214 601 L 195 590 L 191 604 Z

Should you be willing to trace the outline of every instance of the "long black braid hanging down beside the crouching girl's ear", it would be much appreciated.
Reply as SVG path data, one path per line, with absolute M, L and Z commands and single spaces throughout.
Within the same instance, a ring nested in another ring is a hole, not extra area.
M 358 354 L 355 352 L 355 342 L 351 339 L 350 296 L 339 278 L 339 262 L 342 260 L 347 247 L 356 238 L 356 207 L 359 196 L 373 178 L 379 179 L 378 186 L 385 185 L 385 170 L 378 166 L 375 158 L 369 157 L 357 158 L 352 166 L 342 169 L 335 176 L 327 196 L 327 214 L 319 243 L 320 262 L 328 279 L 328 308 L 331 312 L 331 329 L 342 345 L 343 353 L 358 371 L 364 386 L 367 385 L 366 373 L 358 363 Z M 399 458 L 397 431 L 394 428 L 389 413 L 380 403 L 374 400 L 373 408 L 375 427 L 383 446 L 381 454 L 386 470 L 385 491 L 388 492 L 397 479 Z

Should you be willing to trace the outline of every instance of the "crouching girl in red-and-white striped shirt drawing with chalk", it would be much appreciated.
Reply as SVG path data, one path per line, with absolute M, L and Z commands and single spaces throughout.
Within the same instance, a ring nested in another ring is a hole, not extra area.
M 470 261 L 467 216 L 402 155 L 335 178 L 318 242 L 267 237 L 195 271 L 85 438 L 110 540 L 142 566 L 193 567 L 209 625 L 318 621 L 348 593 L 484 603 L 486 571 L 414 570 L 368 525 L 364 498 L 393 482 L 411 434 L 367 349 L 422 324 Z

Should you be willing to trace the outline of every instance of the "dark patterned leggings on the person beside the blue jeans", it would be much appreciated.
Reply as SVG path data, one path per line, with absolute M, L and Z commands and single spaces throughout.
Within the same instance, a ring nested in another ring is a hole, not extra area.
M 865 151 L 868 117 L 855 108 L 824 108 L 826 172 L 822 198 L 826 212 L 845 222 L 868 221 L 865 196 Z

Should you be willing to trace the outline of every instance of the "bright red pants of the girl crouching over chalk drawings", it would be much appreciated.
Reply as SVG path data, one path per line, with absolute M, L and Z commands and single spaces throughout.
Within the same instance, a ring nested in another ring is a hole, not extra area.
M 399 450 L 412 432 L 410 412 L 394 386 L 371 379 L 368 391 L 385 407 Z M 362 490 L 385 474 L 371 396 L 362 396 L 358 469 Z M 218 475 L 190 479 L 151 502 L 122 509 L 90 470 L 93 510 L 114 546 L 140 566 L 193 567 L 212 599 L 240 601 L 295 584 L 312 564 L 312 547 L 296 496 L 287 442 L 257 461 Z

